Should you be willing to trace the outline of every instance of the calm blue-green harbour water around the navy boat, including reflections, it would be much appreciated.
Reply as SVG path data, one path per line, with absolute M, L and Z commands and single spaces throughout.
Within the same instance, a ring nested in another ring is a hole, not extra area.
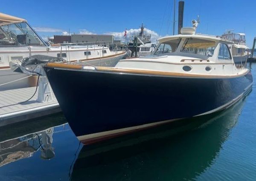
M 1 181 L 144 179 L 256 180 L 255 82 L 226 111 L 89 146 L 62 114 L 0 128 Z

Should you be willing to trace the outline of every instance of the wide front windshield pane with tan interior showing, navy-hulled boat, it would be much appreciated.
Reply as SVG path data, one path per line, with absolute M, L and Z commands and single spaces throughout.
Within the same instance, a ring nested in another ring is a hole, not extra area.
M 183 44 L 181 52 L 212 57 L 214 50 L 215 41 L 199 38 L 187 38 Z

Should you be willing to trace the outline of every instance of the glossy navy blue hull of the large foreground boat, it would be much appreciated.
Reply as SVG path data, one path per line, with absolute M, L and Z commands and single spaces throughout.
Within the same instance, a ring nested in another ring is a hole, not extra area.
M 84 144 L 225 109 L 252 75 L 188 78 L 45 67 L 73 132 Z

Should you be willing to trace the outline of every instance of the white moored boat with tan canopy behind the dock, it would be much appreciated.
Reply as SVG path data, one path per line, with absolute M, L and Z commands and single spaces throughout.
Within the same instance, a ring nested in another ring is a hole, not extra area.
M 48 45 L 25 19 L 0 13 L 0 87 L 1 90 L 29 86 L 25 74 L 12 72 L 10 62 L 20 63 L 24 57 L 46 55 L 68 62 L 80 61 L 93 66 L 115 66 L 126 55 L 123 50 L 110 51 L 110 42 L 65 43 Z

